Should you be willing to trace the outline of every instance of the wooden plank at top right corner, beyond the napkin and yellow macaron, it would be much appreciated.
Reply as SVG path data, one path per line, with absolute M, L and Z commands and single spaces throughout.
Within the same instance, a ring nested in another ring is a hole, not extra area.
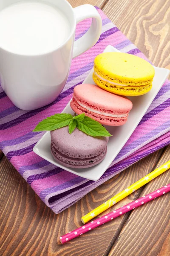
M 169 0 L 109 0 L 103 11 L 154 65 L 170 64 Z

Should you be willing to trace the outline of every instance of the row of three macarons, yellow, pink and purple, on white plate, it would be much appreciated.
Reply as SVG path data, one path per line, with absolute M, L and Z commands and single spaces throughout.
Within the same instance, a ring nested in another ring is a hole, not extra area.
M 125 96 L 140 96 L 152 88 L 154 68 L 142 58 L 121 52 L 106 52 L 94 60 L 94 84 L 74 88 L 71 108 L 102 125 L 127 122 L 132 102 Z M 107 152 L 108 137 L 91 137 L 77 128 L 51 131 L 51 152 L 64 166 L 87 168 L 100 163 Z

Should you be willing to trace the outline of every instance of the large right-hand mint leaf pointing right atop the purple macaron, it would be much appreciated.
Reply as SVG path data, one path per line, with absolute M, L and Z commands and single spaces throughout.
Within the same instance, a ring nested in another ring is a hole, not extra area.
M 95 121 L 94 119 L 85 116 L 82 121 L 77 120 L 77 128 L 80 131 L 83 131 L 85 134 L 90 136 L 104 136 L 110 137 L 112 136 L 104 126 L 102 126 L 99 122 Z

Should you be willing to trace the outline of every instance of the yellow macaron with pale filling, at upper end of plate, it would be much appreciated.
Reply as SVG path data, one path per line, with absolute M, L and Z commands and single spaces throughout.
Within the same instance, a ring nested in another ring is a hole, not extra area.
M 94 60 L 95 83 L 111 93 L 143 95 L 152 88 L 154 75 L 149 62 L 128 53 L 104 52 Z

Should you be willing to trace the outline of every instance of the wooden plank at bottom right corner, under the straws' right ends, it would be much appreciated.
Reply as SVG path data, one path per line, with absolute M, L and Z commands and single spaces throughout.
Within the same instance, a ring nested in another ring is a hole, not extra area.
M 158 167 L 170 160 L 170 146 Z M 170 170 L 144 186 L 144 196 L 170 183 Z M 109 256 L 167 256 L 170 253 L 170 193 L 131 211 Z

